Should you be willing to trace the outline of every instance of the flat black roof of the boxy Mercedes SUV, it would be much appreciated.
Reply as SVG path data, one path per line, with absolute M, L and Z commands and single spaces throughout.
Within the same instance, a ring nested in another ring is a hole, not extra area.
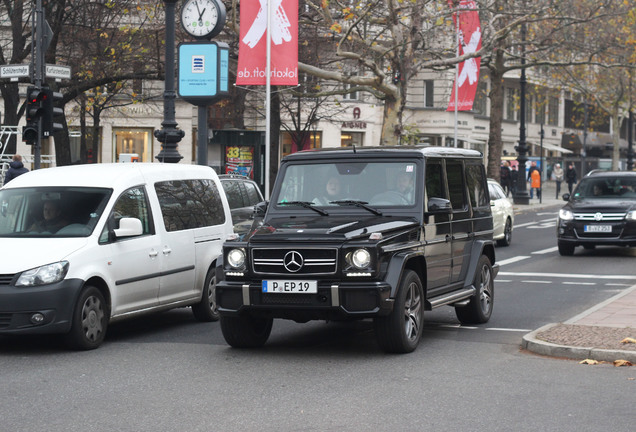
M 384 146 L 384 147 L 330 147 L 315 150 L 305 150 L 285 156 L 284 160 L 314 159 L 342 157 L 344 154 L 361 154 L 364 156 L 424 156 L 424 157 L 460 157 L 481 158 L 483 155 L 477 150 L 455 147 L 430 146 Z

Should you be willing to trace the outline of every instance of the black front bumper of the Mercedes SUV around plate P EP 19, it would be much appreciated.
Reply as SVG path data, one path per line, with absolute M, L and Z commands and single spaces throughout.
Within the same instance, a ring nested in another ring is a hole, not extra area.
M 383 281 L 318 282 L 316 294 L 263 293 L 261 280 L 221 281 L 216 299 L 221 315 L 249 312 L 306 322 L 387 315 L 393 309 L 391 285 Z

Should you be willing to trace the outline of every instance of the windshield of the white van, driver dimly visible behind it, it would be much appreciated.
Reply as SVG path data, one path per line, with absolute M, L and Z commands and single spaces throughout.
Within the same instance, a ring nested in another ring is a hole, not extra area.
M 82 187 L 0 190 L 0 237 L 87 237 L 111 194 Z

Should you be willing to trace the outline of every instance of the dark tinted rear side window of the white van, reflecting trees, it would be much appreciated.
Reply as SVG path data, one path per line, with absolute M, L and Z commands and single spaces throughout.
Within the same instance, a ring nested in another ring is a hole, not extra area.
M 155 183 L 166 231 L 181 231 L 225 222 L 221 195 L 213 180 Z

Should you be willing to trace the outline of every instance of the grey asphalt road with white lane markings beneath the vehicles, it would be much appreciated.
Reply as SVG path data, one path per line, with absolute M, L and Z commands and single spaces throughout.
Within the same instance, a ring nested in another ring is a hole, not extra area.
M 634 250 L 560 257 L 556 209 L 519 215 L 497 249 L 489 323 L 437 309 L 407 355 L 382 353 L 370 322 L 276 321 L 263 349 L 231 349 L 186 309 L 114 325 L 90 352 L 0 337 L 0 431 L 631 432 L 635 367 L 520 350 L 525 332 L 636 283 Z

